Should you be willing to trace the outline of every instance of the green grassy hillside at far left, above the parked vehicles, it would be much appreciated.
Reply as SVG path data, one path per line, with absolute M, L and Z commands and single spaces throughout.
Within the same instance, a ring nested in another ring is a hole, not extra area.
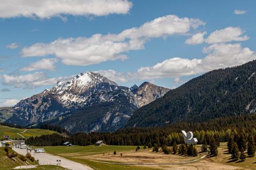
M 12 139 L 15 138 L 22 138 L 22 136 L 18 135 L 17 133 L 23 135 L 25 138 L 29 138 L 31 136 L 40 136 L 43 134 L 53 134 L 57 133 L 55 131 L 45 130 L 45 129 L 28 129 L 26 132 L 24 132 L 26 129 L 17 129 L 17 128 L 10 128 L 7 126 L 1 126 L 0 125 L 0 138 L 3 137 L 3 135 L 10 135 Z M 21 133 L 24 132 L 24 133 Z

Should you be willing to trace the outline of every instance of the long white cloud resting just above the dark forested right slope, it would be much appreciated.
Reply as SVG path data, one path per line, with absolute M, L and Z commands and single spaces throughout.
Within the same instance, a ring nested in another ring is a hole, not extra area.
M 255 52 L 248 47 L 242 47 L 240 43 L 218 43 L 212 44 L 203 49 L 206 56 L 202 59 L 170 58 L 159 62 L 153 66 L 140 67 L 136 72 L 106 71 L 107 78 L 124 80 L 124 82 L 134 79 L 154 80 L 160 78 L 175 78 L 175 82 L 180 82 L 180 77 L 193 76 L 204 72 L 237 66 L 256 59 Z M 104 72 L 101 70 L 100 72 Z M 119 81 L 122 82 L 122 81 Z

